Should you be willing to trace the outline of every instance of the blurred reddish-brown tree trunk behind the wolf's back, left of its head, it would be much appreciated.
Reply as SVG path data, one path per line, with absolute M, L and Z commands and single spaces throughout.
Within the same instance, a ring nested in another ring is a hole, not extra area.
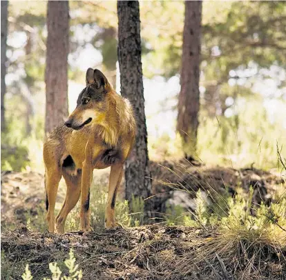
M 48 1 L 45 132 L 68 116 L 68 1 Z

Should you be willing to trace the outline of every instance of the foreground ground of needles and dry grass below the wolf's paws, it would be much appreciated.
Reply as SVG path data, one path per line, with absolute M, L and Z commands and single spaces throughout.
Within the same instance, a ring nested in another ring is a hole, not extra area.
M 238 248 L 224 250 L 222 238 L 216 230 L 187 227 L 58 235 L 30 232 L 21 226 L 1 236 L 2 277 L 21 279 L 26 263 L 33 279 L 50 277 L 48 263 L 57 261 L 62 270 L 70 248 L 83 279 L 274 280 L 286 276 L 285 248 L 277 250 L 260 242 L 260 250 L 252 252 L 252 244 L 242 242 L 236 244 Z M 248 251 L 240 252 L 242 246 Z

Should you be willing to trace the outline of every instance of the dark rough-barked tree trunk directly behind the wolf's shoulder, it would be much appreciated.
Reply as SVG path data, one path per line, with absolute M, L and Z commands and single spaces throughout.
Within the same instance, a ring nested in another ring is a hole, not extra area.
M 151 195 L 141 63 L 139 2 L 117 1 L 117 14 L 121 94 L 131 102 L 137 123 L 135 145 L 125 166 L 125 197 L 131 202 L 132 195 L 143 199 Z M 151 210 L 149 201 L 144 203 L 146 212 Z M 150 216 L 151 212 L 148 212 L 148 215 Z

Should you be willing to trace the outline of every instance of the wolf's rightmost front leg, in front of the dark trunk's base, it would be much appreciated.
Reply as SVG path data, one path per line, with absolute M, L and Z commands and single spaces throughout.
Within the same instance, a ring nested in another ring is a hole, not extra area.
M 116 164 L 111 166 L 111 174 L 109 175 L 109 188 L 108 188 L 108 200 L 105 212 L 105 228 L 112 229 L 116 228 L 114 210 L 117 190 L 120 186 L 123 173 L 123 164 Z

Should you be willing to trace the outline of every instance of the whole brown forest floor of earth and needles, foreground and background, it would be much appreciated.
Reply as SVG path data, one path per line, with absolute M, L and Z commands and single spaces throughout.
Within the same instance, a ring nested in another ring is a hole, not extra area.
M 231 192 L 237 185 L 256 186 L 254 203 L 271 198 L 275 186 L 285 189 L 283 177 L 254 168 L 192 166 L 186 171 L 182 165 L 155 167 L 151 163 L 151 169 L 154 190 L 162 191 L 161 202 L 170 199 L 166 182 L 181 187 L 172 190 L 173 194 L 187 186 L 196 190 L 213 186 L 216 191 L 228 186 Z M 245 239 L 243 232 L 225 232 L 214 226 L 161 224 L 64 235 L 32 231 L 27 213 L 37 216 L 38 206 L 44 206 L 43 176 L 36 172 L 1 175 L 1 279 L 21 279 L 27 263 L 33 279 L 50 277 L 48 263 L 54 261 L 65 273 L 64 260 L 70 248 L 83 279 L 286 279 L 286 246 L 259 236 Z M 101 176 L 105 182 L 108 173 Z M 62 193 L 59 196 L 64 198 Z M 281 237 L 286 244 L 286 234 Z

